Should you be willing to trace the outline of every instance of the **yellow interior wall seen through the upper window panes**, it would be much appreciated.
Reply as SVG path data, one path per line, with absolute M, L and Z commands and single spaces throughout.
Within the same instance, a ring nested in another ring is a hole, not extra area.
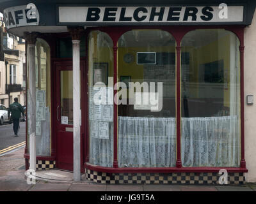
M 93 55 L 93 60 L 90 59 L 90 66 L 93 62 L 108 62 L 108 77 L 113 77 L 113 53 L 109 52 L 107 47 L 94 47 L 96 52 Z M 127 53 L 134 55 L 134 61 L 131 63 L 124 62 L 124 55 Z M 173 47 L 150 47 L 150 50 L 145 47 L 119 47 L 118 48 L 118 80 L 120 76 L 131 76 L 131 82 L 140 81 L 143 79 L 143 65 L 136 64 L 136 54 L 137 52 L 175 52 L 175 46 Z M 182 52 L 190 53 L 190 66 L 193 66 L 193 74 L 190 76 L 190 82 L 198 81 L 198 68 L 200 64 L 205 64 L 209 62 L 219 61 L 223 59 L 224 70 L 227 70 L 228 78 L 227 84 L 228 89 L 223 91 L 224 93 L 224 106 L 229 106 L 230 89 L 229 89 L 229 73 L 230 73 L 230 35 L 224 36 L 219 40 L 216 40 L 209 45 L 205 45 L 200 48 L 195 47 L 185 47 L 182 48 Z M 193 53 L 193 54 L 192 54 Z M 96 61 L 95 61 L 96 59 Z M 91 83 L 90 83 L 91 84 Z M 198 92 L 191 93 L 193 96 L 198 96 Z

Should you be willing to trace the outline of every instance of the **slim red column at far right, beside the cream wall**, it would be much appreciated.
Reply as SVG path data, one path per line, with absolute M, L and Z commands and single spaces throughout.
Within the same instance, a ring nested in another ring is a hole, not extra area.
M 244 42 L 241 40 L 240 50 L 240 91 L 241 91 L 241 162 L 240 167 L 246 168 L 244 159 Z

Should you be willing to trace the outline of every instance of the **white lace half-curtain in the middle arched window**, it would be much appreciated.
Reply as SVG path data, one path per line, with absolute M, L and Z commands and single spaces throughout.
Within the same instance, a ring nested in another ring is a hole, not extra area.
M 118 166 L 175 166 L 175 131 L 174 118 L 118 117 Z

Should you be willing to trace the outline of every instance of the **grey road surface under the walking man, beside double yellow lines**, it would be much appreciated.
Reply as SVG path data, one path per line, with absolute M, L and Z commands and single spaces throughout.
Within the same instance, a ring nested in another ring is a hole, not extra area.
M 0 126 L 0 151 L 26 141 L 26 122 L 20 122 L 19 136 L 13 133 L 13 124 Z

